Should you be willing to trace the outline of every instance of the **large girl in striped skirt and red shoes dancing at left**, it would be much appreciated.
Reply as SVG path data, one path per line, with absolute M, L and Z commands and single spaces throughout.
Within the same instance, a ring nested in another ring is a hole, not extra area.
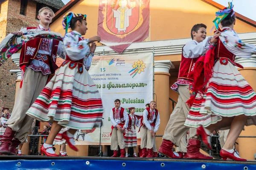
M 98 127 L 103 114 L 99 91 L 87 72 L 96 49 L 95 42 L 99 42 L 100 37 L 82 37 L 87 31 L 86 15 L 68 12 L 63 23 L 65 61 L 26 112 L 40 121 L 52 122 L 47 141 L 41 147 L 41 153 L 46 156 L 58 156 L 52 150 L 52 143 L 63 127 L 70 130 L 64 132 L 62 138 L 71 149 L 78 151 L 74 140 L 76 131 Z M 69 26 L 72 31 L 67 33 Z

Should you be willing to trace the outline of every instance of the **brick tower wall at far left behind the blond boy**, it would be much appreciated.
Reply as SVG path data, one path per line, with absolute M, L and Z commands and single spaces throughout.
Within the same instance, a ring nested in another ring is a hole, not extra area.
M 35 19 L 36 3 L 28 0 L 26 15 L 20 14 L 20 0 L 6 0 L 2 3 L 0 14 L 0 41 L 11 32 L 18 31 L 21 27 L 37 26 Z M 0 107 L 10 108 L 12 112 L 15 102 L 15 89 L 17 76 L 10 70 L 18 69 L 17 65 L 9 58 L 0 66 Z

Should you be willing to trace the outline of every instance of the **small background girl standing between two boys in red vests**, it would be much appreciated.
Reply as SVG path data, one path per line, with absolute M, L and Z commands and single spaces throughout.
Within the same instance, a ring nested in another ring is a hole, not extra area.
M 134 115 L 135 113 L 135 108 L 129 108 L 129 123 L 128 127 L 125 130 L 125 157 L 128 157 L 128 148 L 133 147 L 134 154 L 133 157 L 138 157 L 136 155 L 136 147 L 137 147 L 137 133 L 136 133 L 136 127 L 140 127 L 140 119 L 142 116 Z

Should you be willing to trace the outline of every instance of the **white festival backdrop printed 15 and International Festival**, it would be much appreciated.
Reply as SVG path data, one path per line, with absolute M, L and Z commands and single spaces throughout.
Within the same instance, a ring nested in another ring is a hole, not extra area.
M 153 54 L 95 56 L 89 74 L 99 89 L 104 107 L 101 142 L 110 144 L 109 115 L 115 107 L 114 100 L 120 99 L 126 111 L 135 107 L 135 114 L 141 116 L 145 104 L 153 99 Z M 76 144 L 99 144 L 100 128 L 79 130 L 75 138 Z

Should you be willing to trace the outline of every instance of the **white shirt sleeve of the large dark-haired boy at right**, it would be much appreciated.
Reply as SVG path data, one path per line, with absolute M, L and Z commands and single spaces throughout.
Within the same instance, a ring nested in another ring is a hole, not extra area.
M 206 38 L 204 41 L 196 44 L 195 41 L 189 41 L 183 47 L 183 56 L 185 58 L 197 58 L 200 55 L 204 54 L 209 48 L 209 40 L 212 37 Z

